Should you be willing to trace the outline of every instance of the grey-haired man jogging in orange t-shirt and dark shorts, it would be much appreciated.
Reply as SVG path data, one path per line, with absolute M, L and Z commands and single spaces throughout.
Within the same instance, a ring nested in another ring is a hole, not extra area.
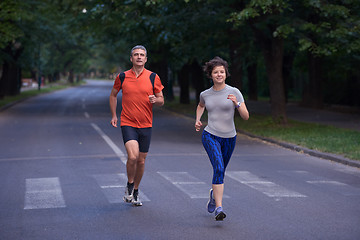
M 134 206 L 142 206 L 139 198 L 139 185 L 144 174 L 145 159 L 149 151 L 153 104 L 164 105 L 161 84 L 157 74 L 145 69 L 147 51 L 144 46 L 132 48 L 130 61 L 133 67 L 119 74 L 110 94 L 111 125 L 117 127 L 117 94 L 122 89 L 122 111 L 120 126 L 128 155 L 126 172 L 128 177 L 124 201 Z

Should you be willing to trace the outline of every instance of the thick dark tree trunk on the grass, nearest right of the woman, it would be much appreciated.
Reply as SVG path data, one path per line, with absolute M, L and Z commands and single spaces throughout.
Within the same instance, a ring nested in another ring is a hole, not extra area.
M 275 122 L 287 124 L 286 99 L 282 75 L 284 41 L 272 38 L 264 48 L 266 72 L 269 81 L 271 115 Z

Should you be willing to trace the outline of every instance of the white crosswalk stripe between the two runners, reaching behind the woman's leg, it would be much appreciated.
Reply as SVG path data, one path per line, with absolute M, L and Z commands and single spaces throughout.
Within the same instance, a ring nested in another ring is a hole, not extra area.
M 210 184 L 200 181 L 187 172 L 158 172 L 190 198 L 209 198 Z M 229 198 L 225 195 L 223 198 Z

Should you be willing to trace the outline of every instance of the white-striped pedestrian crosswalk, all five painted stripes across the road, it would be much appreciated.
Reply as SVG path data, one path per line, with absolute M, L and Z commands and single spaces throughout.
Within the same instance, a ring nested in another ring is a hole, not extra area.
M 166 181 L 169 181 L 182 193 L 191 199 L 201 199 L 209 197 L 211 183 L 192 176 L 188 172 L 157 172 Z M 293 180 L 301 181 L 318 187 L 319 191 L 333 191 L 344 196 L 360 196 L 360 189 L 335 180 L 329 180 L 322 176 L 314 175 L 307 171 L 278 171 L 278 173 L 291 176 Z M 93 174 L 91 175 L 97 182 L 101 192 L 111 204 L 123 203 L 127 177 L 125 173 L 119 174 Z M 306 198 L 305 194 L 289 190 L 274 182 L 264 180 L 248 171 L 228 171 L 229 177 L 251 189 L 261 192 L 275 200 L 282 198 Z M 150 199 L 140 190 L 141 201 L 146 202 Z M 229 198 L 224 195 L 224 198 Z M 24 209 L 47 209 L 65 208 L 65 200 L 58 177 L 53 178 L 29 178 L 26 179 L 26 192 Z

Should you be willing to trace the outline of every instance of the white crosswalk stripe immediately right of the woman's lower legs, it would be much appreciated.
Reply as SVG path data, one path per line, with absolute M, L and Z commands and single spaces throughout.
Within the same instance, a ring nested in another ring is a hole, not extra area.
M 280 185 L 273 182 L 264 181 L 256 175 L 247 171 L 228 171 L 226 176 L 245 184 L 263 194 L 272 198 L 284 198 L 284 197 L 306 197 L 295 191 L 290 191 Z

